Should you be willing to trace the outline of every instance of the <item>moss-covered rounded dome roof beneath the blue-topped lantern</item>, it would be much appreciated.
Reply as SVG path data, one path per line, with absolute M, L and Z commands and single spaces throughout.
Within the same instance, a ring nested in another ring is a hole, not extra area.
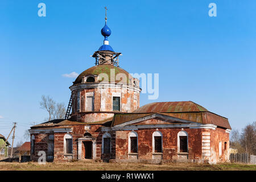
M 115 77 L 113 77 L 111 75 L 111 71 L 112 69 L 114 69 L 114 75 Z M 100 64 L 100 65 L 96 65 L 92 68 L 86 69 L 84 72 L 82 72 L 75 80 L 74 85 L 75 84 L 80 84 L 82 81 L 82 77 L 84 76 L 89 76 L 89 75 L 100 75 L 101 73 L 105 73 L 106 75 L 108 75 L 109 80 L 106 80 L 108 82 L 115 80 L 115 82 L 122 82 L 122 83 L 126 83 L 129 84 L 131 81 L 131 78 L 133 78 L 127 71 L 125 71 L 122 68 L 119 67 L 115 67 L 113 65 L 109 65 L 109 64 Z M 121 81 L 119 79 L 117 79 L 117 74 L 118 73 L 123 73 L 126 76 L 126 80 L 122 80 Z M 112 77 L 113 78 L 112 78 Z M 130 80 L 129 80 L 130 79 Z M 105 80 L 102 80 L 105 81 Z

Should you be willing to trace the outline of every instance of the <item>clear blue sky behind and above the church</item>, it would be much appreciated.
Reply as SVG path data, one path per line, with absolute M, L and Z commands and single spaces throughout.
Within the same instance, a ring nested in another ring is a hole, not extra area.
M 46 4 L 46 17 L 38 4 Z M 209 3 L 217 5 L 210 17 Z M 159 73 L 159 98 L 193 101 L 229 118 L 256 121 L 256 1 L 0 1 L 0 133 L 18 123 L 15 143 L 47 118 L 42 95 L 68 104 L 69 86 L 94 65 L 108 7 L 109 44 L 121 68 Z M 10 141 L 9 141 L 10 142 Z

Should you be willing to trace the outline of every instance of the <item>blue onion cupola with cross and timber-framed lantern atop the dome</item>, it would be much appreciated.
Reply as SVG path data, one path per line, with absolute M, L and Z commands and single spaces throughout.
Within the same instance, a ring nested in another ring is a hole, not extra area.
M 105 10 L 108 10 L 105 7 Z M 95 57 L 95 65 L 99 64 L 110 64 L 119 67 L 118 56 L 121 55 L 120 52 L 114 52 L 113 48 L 109 46 L 108 37 L 111 35 L 111 30 L 107 25 L 107 16 L 105 13 L 105 26 L 101 29 L 101 35 L 104 36 L 103 45 L 95 51 L 92 57 Z

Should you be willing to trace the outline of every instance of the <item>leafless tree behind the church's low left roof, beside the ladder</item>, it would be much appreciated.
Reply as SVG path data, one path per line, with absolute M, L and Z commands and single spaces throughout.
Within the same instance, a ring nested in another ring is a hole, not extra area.
M 55 102 L 49 96 L 42 96 L 42 101 L 40 102 L 40 106 L 42 109 L 47 110 L 49 117 L 48 121 L 51 119 L 64 119 L 65 118 L 65 105 L 63 103 Z

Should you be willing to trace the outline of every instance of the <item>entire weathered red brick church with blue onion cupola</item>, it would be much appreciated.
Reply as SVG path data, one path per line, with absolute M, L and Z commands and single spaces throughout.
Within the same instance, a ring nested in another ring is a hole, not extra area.
M 218 163 L 229 159 L 227 118 L 192 101 L 154 102 L 139 107 L 139 80 L 119 67 L 119 52 L 104 44 L 93 53 L 95 66 L 71 89 L 65 119 L 32 126 L 31 160 Z

